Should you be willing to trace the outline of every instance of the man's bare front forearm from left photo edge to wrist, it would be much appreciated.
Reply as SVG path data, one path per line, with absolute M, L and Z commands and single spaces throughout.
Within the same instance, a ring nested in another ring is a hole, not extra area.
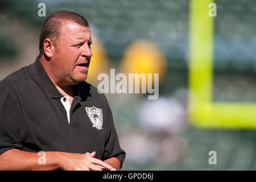
M 59 152 L 46 152 L 46 163 L 39 164 L 38 152 L 11 149 L 0 155 L 0 170 L 56 170 L 59 169 Z

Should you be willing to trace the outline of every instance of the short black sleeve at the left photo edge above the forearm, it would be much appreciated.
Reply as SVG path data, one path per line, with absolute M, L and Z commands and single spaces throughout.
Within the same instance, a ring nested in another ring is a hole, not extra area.
M 18 101 L 7 90 L 0 90 L 0 155 L 13 148 L 22 148 L 18 138 L 22 114 Z

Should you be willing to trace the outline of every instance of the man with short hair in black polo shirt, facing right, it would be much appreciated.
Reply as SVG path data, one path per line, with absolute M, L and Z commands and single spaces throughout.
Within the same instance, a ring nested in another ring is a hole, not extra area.
M 43 23 L 35 63 L 0 82 L 0 170 L 121 168 L 126 154 L 108 101 L 84 81 L 90 44 L 88 22 L 57 11 Z

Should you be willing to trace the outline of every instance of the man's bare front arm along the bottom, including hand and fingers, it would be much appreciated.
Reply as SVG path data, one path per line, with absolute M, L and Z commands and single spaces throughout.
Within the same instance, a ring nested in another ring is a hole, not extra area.
M 37 152 L 11 149 L 0 155 L 0 170 L 113 170 L 109 164 L 86 154 L 46 152 L 46 164 L 39 164 Z

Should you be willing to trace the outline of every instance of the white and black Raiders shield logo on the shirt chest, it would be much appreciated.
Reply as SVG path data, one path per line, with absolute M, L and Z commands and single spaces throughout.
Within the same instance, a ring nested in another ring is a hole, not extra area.
M 85 107 L 86 113 L 90 118 L 90 121 L 93 123 L 93 127 L 100 130 L 102 129 L 103 124 L 103 113 L 102 109 L 98 109 L 96 107 Z

